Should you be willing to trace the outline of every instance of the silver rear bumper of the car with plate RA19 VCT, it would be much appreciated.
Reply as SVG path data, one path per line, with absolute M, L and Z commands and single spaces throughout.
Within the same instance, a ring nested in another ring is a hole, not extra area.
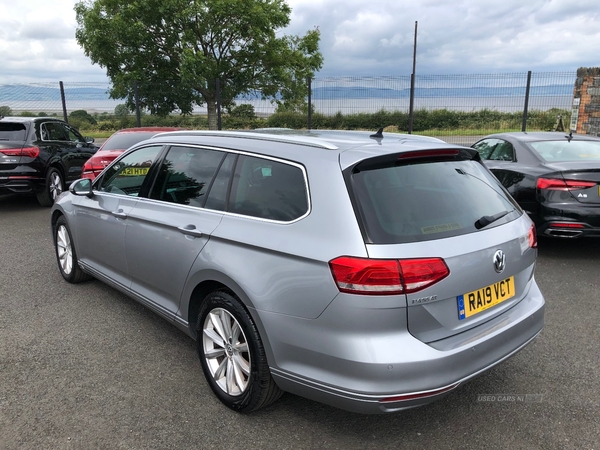
M 281 316 L 261 314 L 261 319 L 269 334 L 282 332 L 296 338 L 272 347 L 271 371 L 283 390 L 360 413 L 399 411 L 446 395 L 531 342 L 543 328 L 545 308 L 532 280 L 528 296 L 500 316 L 425 344 L 406 331 L 405 323 L 398 323 L 406 316 L 404 308 L 363 309 L 352 317 L 348 304 L 343 306 L 345 313 L 332 304 L 311 321 L 313 327 L 304 321 L 303 327 L 296 328 L 293 320 Z M 375 326 L 373 316 L 380 319 Z M 355 328 L 341 329 L 342 322 Z M 371 323 L 370 329 L 365 323 Z M 309 332 L 298 336 L 300 328 Z

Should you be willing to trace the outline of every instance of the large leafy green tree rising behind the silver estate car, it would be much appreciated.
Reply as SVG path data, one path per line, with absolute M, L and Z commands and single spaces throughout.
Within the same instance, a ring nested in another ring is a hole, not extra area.
M 113 98 L 152 114 L 190 114 L 206 104 L 217 126 L 216 79 L 227 107 L 241 94 L 278 104 L 304 102 L 306 79 L 323 64 L 320 33 L 277 35 L 289 24 L 285 0 L 86 0 L 75 5 L 76 38 L 106 68 Z

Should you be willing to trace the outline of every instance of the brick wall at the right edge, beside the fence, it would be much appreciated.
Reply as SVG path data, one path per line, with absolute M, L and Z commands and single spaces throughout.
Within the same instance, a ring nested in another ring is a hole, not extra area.
M 577 114 L 577 133 L 600 135 L 600 67 L 577 69 L 573 113 Z

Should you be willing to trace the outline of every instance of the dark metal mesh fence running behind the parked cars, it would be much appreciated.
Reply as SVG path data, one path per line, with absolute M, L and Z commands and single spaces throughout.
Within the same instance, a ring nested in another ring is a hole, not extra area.
M 548 129 L 554 124 L 558 114 L 564 114 L 563 121 L 568 124 L 576 77 L 576 72 L 531 73 L 529 78 L 528 73 L 417 75 L 414 90 L 414 118 L 421 128 L 414 128 L 414 132 L 434 130 L 433 135 L 436 135 L 435 130 L 440 130 L 440 136 L 464 135 L 465 127 L 456 125 L 456 121 L 462 120 L 462 116 L 471 113 L 478 114 L 477 120 L 481 123 L 477 123 L 475 128 L 480 131 L 520 129 L 526 97 L 527 129 Z M 354 126 L 348 126 L 353 116 L 365 114 L 381 116 L 385 113 L 387 116 L 383 121 L 387 122 L 382 126 L 394 125 L 398 131 L 406 131 L 407 128 L 403 124 L 409 111 L 410 84 L 410 76 L 315 78 L 310 84 L 313 128 L 318 128 L 319 124 L 327 126 L 327 118 L 341 115 L 348 116 L 348 120 L 331 123 L 354 129 Z M 83 110 L 94 117 L 114 119 L 117 116 L 115 108 L 125 103 L 124 99 L 110 98 L 111 86 L 108 82 L 68 82 L 64 83 L 63 87 L 67 114 Z M 308 85 L 306 92 L 308 96 Z M 252 105 L 259 118 L 268 118 L 276 111 L 276 105 L 269 100 L 260 99 L 260 95 L 238 98 L 235 99 L 235 103 Z M 134 112 L 123 108 L 119 112 L 123 114 L 123 111 L 125 114 L 135 116 Z M 452 117 L 453 121 L 445 123 L 442 119 L 447 111 L 452 111 L 454 117 Z M 550 117 L 545 114 L 541 120 L 538 117 L 540 111 L 550 111 Z M 428 112 L 431 113 L 429 116 Z M 489 112 L 505 113 L 505 116 L 513 114 L 513 117 L 510 118 L 509 123 L 505 118 L 499 119 L 498 114 L 488 114 Z M 389 113 L 392 113 L 393 117 Z M 60 83 L 0 85 L 0 115 L 11 114 L 62 116 Z M 207 111 L 203 106 L 196 106 L 193 114 L 206 115 Z M 320 121 L 317 120 L 318 116 L 321 117 Z M 354 123 L 358 122 L 354 121 Z M 306 120 L 300 122 L 300 126 L 306 127 L 306 124 Z M 119 123 L 114 122 L 110 126 L 119 126 Z M 110 126 L 107 129 L 110 129 Z M 372 128 L 373 125 L 369 123 L 366 127 Z M 456 129 L 455 132 L 452 132 L 453 128 Z

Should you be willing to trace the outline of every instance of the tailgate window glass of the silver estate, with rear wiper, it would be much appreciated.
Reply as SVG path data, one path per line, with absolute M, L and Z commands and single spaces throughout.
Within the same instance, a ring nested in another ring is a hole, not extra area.
M 475 161 L 423 162 L 351 175 L 367 239 L 374 244 L 420 242 L 481 229 L 484 216 L 521 213 L 494 176 Z

